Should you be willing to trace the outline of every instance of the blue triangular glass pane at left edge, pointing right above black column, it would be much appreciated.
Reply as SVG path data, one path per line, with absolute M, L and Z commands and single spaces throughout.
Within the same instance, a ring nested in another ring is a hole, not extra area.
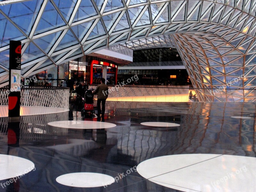
M 6 6 L 6 5 L 4 5 Z M 19 41 L 26 37 L 7 20 L 2 14 L 0 14 L 0 47 L 4 47 L 10 44 L 10 40 Z M 9 54 L 9 53 L 8 53 Z

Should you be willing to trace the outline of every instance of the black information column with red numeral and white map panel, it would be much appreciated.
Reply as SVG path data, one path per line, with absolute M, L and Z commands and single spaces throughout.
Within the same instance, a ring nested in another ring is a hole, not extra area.
M 20 65 L 21 65 L 21 42 L 10 41 L 9 58 L 9 117 L 20 117 Z M 17 119 L 17 118 L 16 118 Z

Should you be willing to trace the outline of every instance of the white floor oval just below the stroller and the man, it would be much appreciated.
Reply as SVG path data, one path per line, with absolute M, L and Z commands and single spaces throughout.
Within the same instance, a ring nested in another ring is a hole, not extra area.
M 48 125 L 68 129 L 106 129 L 116 126 L 116 124 L 101 121 L 54 121 Z

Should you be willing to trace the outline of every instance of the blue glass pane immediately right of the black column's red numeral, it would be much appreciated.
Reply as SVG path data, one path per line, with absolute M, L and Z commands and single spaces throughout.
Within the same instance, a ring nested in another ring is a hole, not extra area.
M 29 43 L 28 47 L 24 51 L 22 55 L 22 64 L 27 63 L 29 61 L 35 60 L 37 58 L 43 57 L 44 53 L 39 50 L 35 44 L 32 42 Z

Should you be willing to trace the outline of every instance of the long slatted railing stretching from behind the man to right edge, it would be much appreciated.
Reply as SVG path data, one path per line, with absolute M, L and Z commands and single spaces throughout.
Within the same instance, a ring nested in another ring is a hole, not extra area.
M 96 85 L 89 86 L 96 88 Z M 156 97 L 150 101 L 168 101 L 161 100 L 162 96 L 176 96 L 170 98 L 171 101 L 186 102 L 184 95 L 194 102 L 256 102 L 256 89 L 206 89 L 206 88 L 188 88 L 188 86 L 172 85 L 108 85 L 111 89 L 108 98 L 129 98 L 129 97 Z M 113 91 L 112 91 L 113 89 Z M 193 92 L 192 95 L 190 92 Z M 95 96 L 97 97 L 97 96 Z M 173 100 L 174 99 L 174 100 Z M 110 100 L 110 99 L 108 99 Z M 129 101 L 129 100 L 123 100 Z M 135 100 L 142 101 L 142 100 Z

